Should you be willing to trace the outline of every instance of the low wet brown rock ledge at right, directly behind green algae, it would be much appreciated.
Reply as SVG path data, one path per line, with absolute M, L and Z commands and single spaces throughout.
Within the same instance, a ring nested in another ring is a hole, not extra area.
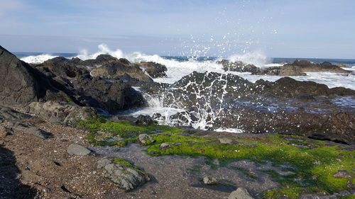
M 355 144 L 354 113 L 307 113 L 302 111 L 262 112 L 260 110 L 223 110 L 214 126 L 231 127 L 244 132 L 284 133 Z

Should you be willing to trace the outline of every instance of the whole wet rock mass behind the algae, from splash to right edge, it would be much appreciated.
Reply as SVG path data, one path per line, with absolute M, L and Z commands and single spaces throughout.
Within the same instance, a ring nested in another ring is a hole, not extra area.
M 340 98 L 354 101 L 351 89 L 329 89 L 290 77 L 253 84 L 233 74 L 214 72 L 193 72 L 170 87 L 143 91 L 160 94 L 164 104 L 185 109 L 168 118 L 175 125 L 209 130 L 231 127 L 355 143 L 354 106 L 336 103 Z

